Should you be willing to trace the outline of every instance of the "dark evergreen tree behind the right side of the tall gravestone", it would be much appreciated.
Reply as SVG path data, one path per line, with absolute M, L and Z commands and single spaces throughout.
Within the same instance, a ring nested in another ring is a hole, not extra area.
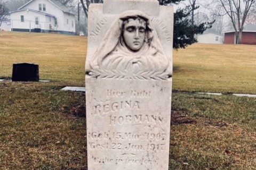
M 184 0 L 158 0 L 160 5 L 179 4 Z M 174 13 L 174 31 L 173 31 L 173 48 L 186 48 L 188 45 L 196 43 L 195 35 L 202 34 L 206 29 L 212 27 L 214 22 L 204 22 L 201 24 L 194 24 L 194 22 L 188 18 L 192 10 L 196 8 L 187 6 L 183 9 L 178 8 Z

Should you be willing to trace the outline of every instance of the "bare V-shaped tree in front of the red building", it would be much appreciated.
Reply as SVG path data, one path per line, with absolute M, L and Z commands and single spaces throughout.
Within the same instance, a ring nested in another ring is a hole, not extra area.
M 217 0 L 217 3 L 229 16 L 237 36 L 237 44 L 241 44 L 244 23 L 255 0 Z

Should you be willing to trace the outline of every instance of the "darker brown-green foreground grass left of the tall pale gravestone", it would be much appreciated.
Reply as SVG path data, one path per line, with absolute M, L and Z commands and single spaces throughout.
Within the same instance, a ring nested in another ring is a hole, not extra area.
M 86 166 L 86 121 L 74 116 L 83 92 L 47 83 L 0 83 L 1 169 Z

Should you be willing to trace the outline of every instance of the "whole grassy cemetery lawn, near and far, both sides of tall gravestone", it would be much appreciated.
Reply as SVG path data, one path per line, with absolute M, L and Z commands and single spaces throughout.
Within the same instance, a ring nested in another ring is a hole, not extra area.
M 0 32 L 1 169 L 87 169 L 86 37 Z M 256 48 L 195 44 L 174 51 L 169 169 L 255 169 Z M 41 80 L 11 82 L 12 64 Z M 194 94 L 223 92 L 223 96 Z

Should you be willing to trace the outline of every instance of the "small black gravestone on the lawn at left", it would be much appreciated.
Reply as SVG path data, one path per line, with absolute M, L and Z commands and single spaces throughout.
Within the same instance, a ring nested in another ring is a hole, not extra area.
M 38 64 L 13 64 L 12 81 L 39 81 Z

